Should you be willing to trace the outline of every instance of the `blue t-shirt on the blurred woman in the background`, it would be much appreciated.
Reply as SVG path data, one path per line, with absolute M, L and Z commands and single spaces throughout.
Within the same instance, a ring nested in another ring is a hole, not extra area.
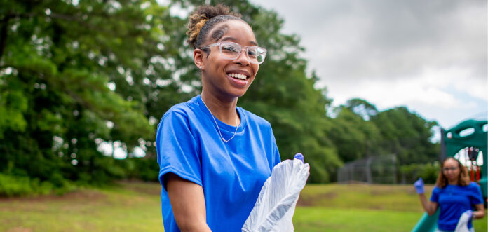
M 444 231 L 454 231 L 459 218 L 466 210 L 473 210 L 472 205 L 482 204 L 483 197 L 480 186 L 471 182 L 468 186 L 448 184 L 444 188 L 435 186 L 432 191 L 431 201 L 438 203 L 440 214 L 438 228 Z M 468 228 L 472 228 L 471 219 Z

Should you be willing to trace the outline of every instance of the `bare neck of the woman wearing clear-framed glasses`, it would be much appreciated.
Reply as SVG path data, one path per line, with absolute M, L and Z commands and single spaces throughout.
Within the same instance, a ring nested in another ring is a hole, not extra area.
M 236 109 L 237 97 L 231 100 L 224 100 L 215 95 L 207 94 L 205 91 L 202 91 L 201 97 L 215 118 L 228 125 L 238 126 L 240 124 Z

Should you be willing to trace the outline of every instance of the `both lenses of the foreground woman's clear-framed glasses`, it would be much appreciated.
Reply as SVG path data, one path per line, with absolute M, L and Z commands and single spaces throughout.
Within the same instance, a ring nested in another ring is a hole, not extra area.
M 237 44 L 237 43 L 221 43 L 220 44 L 220 53 L 224 57 L 228 57 L 230 59 L 236 59 L 239 55 L 240 52 L 243 50 L 243 48 Z M 263 48 L 259 48 L 257 46 L 250 46 L 245 48 L 246 55 L 248 55 L 248 58 L 250 62 L 258 63 L 261 64 L 264 62 L 264 57 L 266 56 L 266 53 L 264 53 Z

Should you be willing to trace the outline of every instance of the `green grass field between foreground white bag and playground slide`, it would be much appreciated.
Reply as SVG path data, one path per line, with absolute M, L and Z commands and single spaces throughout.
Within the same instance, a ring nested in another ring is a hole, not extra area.
M 431 196 L 433 185 L 425 189 Z M 308 184 L 298 206 L 293 217 L 298 232 L 411 231 L 423 215 L 411 185 Z M 473 226 L 487 231 L 487 217 Z

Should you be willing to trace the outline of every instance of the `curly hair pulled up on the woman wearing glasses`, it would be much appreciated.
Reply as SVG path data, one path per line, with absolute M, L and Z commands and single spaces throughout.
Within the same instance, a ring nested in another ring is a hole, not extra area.
M 193 48 L 200 48 L 206 41 L 208 32 L 220 22 L 229 20 L 240 20 L 240 14 L 230 11 L 229 6 L 218 4 L 217 6 L 198 6 L 196 10 L 189 16 L 187 35 L 189 39 L 188 44 Z M 246 22 L 247 23 L 247 22 Z M 222 27 L 214 32 L 212 39 L 220 39 L 226 32 L 226 27 Z

